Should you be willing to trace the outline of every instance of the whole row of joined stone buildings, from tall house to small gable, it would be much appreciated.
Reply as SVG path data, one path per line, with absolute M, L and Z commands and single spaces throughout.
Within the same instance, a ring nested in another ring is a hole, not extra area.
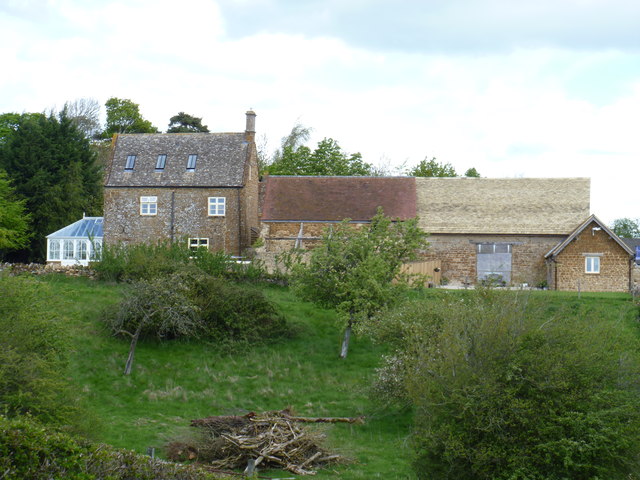
M 246 113 L 241 133 L 115 136 L 104 241 L 184 241 L 243 255 L 261 238 L 256 254 L 272 265 L 278 253 L 312 248 L 326 227 L 345 218 L 366 224 L 382 207 L 392 218 L 418 216 L 430 234 L 422 259 L 439 262 L 439 275 L 452 284 L 488 280 L 583 291 L 632 286 L 633 249 L 589 216 L 587 178 L 260 181 L 255 117 Z

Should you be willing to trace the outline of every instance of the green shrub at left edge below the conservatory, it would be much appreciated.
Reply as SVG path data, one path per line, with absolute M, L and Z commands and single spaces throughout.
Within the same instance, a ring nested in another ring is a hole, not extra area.
M 77 402 L 65 379 L 70 342 L 51 301 L 46 285 L 0 275 L 0 411 L 74 423 Z

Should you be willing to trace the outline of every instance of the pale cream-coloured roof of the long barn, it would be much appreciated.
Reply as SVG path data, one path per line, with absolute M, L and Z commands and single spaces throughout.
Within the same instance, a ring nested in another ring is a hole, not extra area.
M 429 233 L 568 235 L 590 208 L 588 178 L 416 178 Z

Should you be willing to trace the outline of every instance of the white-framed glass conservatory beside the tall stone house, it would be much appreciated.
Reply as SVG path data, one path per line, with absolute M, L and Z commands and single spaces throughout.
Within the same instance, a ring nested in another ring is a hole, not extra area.
M 102 252 L 102 217 L 82 217 L 47 235 L 47 264 L 89 265 Z

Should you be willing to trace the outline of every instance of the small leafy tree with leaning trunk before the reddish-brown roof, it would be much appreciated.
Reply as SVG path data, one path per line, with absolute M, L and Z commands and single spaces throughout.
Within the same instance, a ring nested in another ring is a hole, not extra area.
M 336 309 L 345 329 L 340 358 L 347 356 L 352 327 L 398 299 L 407 285 L 402 264 L 426 248 L 426 236 L 417 219 L 393 222 L 379 209 L 362 228 L 345 220 L 326 230 L 309 262 L 293 266 L 296 293 Z

